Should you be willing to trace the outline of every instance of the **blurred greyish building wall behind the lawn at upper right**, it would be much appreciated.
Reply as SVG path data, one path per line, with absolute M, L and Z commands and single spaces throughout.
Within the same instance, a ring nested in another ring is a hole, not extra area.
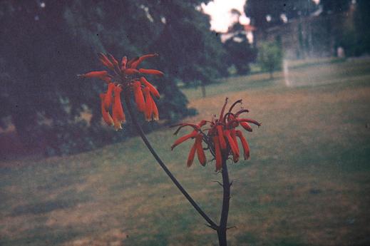
M 338 40 L 353 24 L 353 9 L 343 14 L 307 16 L 256 34 L 258 42 L 282 43 L 284 58 L 302 59 L 336 55 Z

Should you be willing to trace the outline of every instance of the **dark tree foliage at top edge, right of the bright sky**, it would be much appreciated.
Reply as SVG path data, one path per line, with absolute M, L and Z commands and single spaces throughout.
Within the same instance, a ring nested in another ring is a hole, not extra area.
M 316 9 L 312 0 L 248 0 L 245 4 L 245 14 L 250 17 L 252 25 L 260 30 L 283 24 L 282 14 L 289 20 L 307 16 Z M 270 21 L 267 21 L 267 16 L 271 18 Z

